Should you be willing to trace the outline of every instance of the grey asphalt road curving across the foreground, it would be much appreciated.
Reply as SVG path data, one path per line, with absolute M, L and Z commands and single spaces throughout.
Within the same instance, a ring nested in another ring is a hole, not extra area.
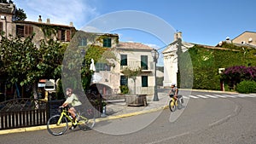
M 98 123 L 95 130 L 69 130 L 61 136 L 49 135 L 47 130 L 0 135 L 0 144 L 256 143 L 256 97 L 221 97 L 225 95 L 202 92 L 189 95 L 197 98 L 184 99 L 185 107 L 177 112 L 165 109 L 104 121 Z M 155 116 L 158 117 L 148 124 L 148 119 Z

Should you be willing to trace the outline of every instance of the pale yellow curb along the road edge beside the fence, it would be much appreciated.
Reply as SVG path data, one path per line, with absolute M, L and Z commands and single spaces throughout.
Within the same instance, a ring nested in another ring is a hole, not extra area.
M 97 122 L 102 122 L 102 121 L 107 121 L 107 120 L 113 120 L 117 118 L 126 118 L 126 117 L 131 117 L 131 116 L 137 116 L 140 114 L 145 114 L 148 112 L 157 112 L 163 109 L 168 108 L 168 106 L 165 107 L 156 107 L 144 111 L 138 111 L 138 112 L 131 112 L 131 113 L 125 113 L 125 114 L 120 114 L 117 116 L 108 116 L 106 118 L 96 118 L 96 123 Z M 40 125 L 40 126 L 34 126 L 34 127 L 26 127 L 26 128 L 17 128 L 17 129 L 10 129 L 10 130 L 0 130 L 0 135 L 5 135 L 5 134 L 14 134 L 14 133 L 20 133 L 20 132 L 27 132 L 27 131 L 36 131 L 36 130 L 46 130 L 47 126 L 46 125 Z

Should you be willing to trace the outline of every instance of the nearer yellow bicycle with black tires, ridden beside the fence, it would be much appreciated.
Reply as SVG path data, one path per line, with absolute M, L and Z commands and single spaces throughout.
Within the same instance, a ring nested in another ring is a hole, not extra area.
M 51 135 L 65 134 L 68 128 L 68 121 L 71 122 L 69 124 L 74 124 L 73 118 L 68 112 L 68 107 L 60 107 L 59 112 L 61 112 L 61 114 L 50 117 L 47 122 L 47 130 Z M 80 130 L 90 130 L 96 123 L 93 108 L 87 109 L 85 112 L 77 112 L 77 119 L 77 125 Z

